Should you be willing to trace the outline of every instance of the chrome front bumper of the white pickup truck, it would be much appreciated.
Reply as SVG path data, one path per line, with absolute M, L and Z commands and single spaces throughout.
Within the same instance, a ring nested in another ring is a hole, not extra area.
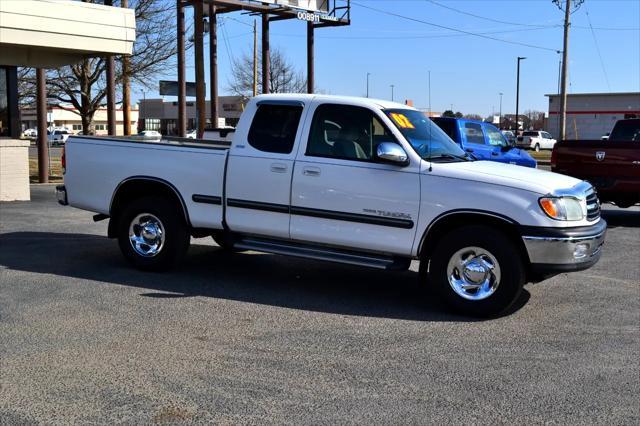
M 594 225 L 575 228 L 523 227 L 521 232 L 533 271 L 581 271 L 600 260 L 607 222 L 600 219 Z

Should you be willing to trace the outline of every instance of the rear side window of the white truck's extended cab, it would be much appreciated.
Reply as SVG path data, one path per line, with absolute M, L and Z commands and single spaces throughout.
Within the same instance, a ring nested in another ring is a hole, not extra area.
M 259 105 L 249 129 L 249 145 L 264 152 L 291 153 L 301 115 L 302 106 Z

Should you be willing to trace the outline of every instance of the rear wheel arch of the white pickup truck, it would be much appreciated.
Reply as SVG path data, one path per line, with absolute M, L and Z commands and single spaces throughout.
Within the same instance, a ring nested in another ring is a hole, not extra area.
M 113 191 L 109 204 L 109 238 L 115 238 L 118 229 L 118 218 L 122 208 L 130 201 L 147 195 L 160 195 L 172 200 L 182 212 L 187 226 L 191 226 L 189 211 L 180 191 L 170 182 L 152 176 L 131 176 L 122 180 Z

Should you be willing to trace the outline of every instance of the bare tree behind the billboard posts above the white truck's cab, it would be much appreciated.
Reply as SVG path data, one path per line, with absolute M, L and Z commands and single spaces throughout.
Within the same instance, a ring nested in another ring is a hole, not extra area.
M 279 49 L 271 49 L 269 60 L 271 76 L 270 93 L 305 93 L 307 79 L 295 68 Z M 228 89 L 239 96 L 253 95 L 253 55 L 245 53 L 233 61 L 232 76 L 227 82 Z M 258 55 L 258 93 L 262 93 L 262 58 Z

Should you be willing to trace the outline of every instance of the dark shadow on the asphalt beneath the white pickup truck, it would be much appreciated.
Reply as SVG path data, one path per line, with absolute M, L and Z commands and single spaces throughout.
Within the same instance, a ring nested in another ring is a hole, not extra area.
M 333 314 L 477 321 L 448 312 L 419 285 L 413 271 L 379 271 L 254 252 L 226 253 L 215 246 L 194 244 L 178 269 L 159 274 L 130 267 L 117 243 L 106 237 L 14 232 L 0 234 L 0 265 L 136 287 L 143 290 L 140 296 L 158 299 L 203 296 Z M 529 297 L 525 290 L 509 314 L 524 306 Z

